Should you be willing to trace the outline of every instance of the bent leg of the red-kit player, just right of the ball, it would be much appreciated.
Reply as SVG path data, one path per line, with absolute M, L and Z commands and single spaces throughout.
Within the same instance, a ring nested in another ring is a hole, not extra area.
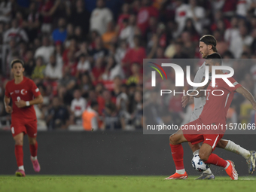
M 205 141 L 199 152 L 200 159 L 203 160 L 204 163 L 223 167 L 232 180 L 237 180 L 238 174 L 234 163 L 231 160 L 224 160 L 218 157 L 217 154 L 212 154 L 212 151 L 215 149 L 215 143 L 218 142 L 220 137 L 220 135 L 207 135 L 207 140 L 205 137 Z

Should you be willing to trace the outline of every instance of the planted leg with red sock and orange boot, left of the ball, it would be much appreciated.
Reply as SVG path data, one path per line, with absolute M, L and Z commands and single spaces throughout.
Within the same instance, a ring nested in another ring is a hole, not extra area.
M 166 179 L 185 179 L 187 178 L 187 172 L 184 169 L 183 163 L 183 148 L 181 143 L 187 142 L 187 139 L 184 138 L 182 130 L 178 130 L 178 132 L 174 133 L 169 137 L 169 145 L 172 150 L 172 159 L 175 163 L 175 174 L 169 176 Z

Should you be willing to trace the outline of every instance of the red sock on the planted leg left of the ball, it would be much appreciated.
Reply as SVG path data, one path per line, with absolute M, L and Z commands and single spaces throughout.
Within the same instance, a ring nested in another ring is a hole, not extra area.
M 182 145 L 170 144 L 169 146 L 171 147 L 171 150 L 172 150 L 172 158 L 175 163 L 176 170 L 184 169 Z

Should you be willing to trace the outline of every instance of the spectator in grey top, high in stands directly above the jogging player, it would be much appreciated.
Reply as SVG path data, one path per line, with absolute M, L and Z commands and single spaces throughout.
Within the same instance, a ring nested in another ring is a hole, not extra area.
M 11 39 L 14 38 L 16 42 L 21 40 L 28 42 L 29 38 L 26 35 L 24 29 L 18 26 L 17 20 L 14 19 L 11 21 L 11 29 L 8 29 L 4 34 L 4 43 L 8 44 Z

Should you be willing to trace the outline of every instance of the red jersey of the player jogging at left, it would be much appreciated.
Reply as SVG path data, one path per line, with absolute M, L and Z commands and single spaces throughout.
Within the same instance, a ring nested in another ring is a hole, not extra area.
M 5 87 L 5 96 L 11 97 L 13 102 L 13 112 L 11 113 L 12 119 L 22 120 L 36 120 L 35 109 L 33 105 L 24 108 L 18 108 L 15 105 L 16 101 L 31 101 L 34 96 L 37 97 L 41 93 L 38 87 L 36 87 L 34 81 L 24 77 L 20 84 L 15 84 L 14 79 L 9 81 Z

